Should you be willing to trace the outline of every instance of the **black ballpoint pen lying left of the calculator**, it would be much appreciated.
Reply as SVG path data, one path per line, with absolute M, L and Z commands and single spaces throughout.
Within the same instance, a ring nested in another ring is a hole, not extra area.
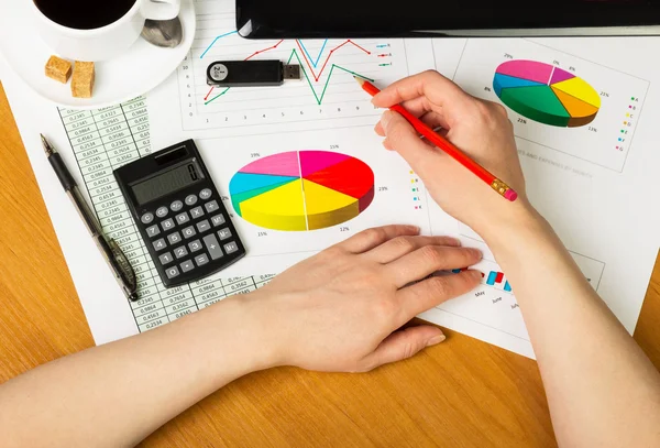
M 131 263 L 129 263 L 129 260 L 119 248 L 117 242 L 103 234 L 99 221 L 80 194 L 78 185 L 64 164 L 62 156 L 57 153 L 57 151 L 55 151 L 51 143 L 48 143 L 43 134 L 41 138 L 51 166 L 53 166 L 53 170 L 55 171 L 57 178 L 59 178 L 64 190 L 72 199 L 72 203 L 74 203 L 78 215 L 80 215 L 80 218 L 82 218 L 87 230 L 89 230 L 89 234 L 94 239 L 97 248 L 99 248 L 99 251 L 103 255 L 106 263 L 108 263 L 108 266 L 110 266 L 110 270 L 121 286 L 121 289 L 129 299 L 138 301 L 138 282 L 135 278 L 135 272 L 131 267 Z

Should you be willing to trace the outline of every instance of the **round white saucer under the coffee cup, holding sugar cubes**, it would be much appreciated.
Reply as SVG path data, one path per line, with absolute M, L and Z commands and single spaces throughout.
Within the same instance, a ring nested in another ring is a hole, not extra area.
M 34 29 L 29 1 L 32 0 L 4 1 L 0 11 L 0 53 L 28 86 L 57 106 L 96 109 L 143 95 L 178 67 L 195 39 L 195 7 L 193 0 L 183 0 L 179 19 L 184 41 L 176 48 L 161 48 L 140 37 L 121 56 L 96 64 L 91 98 L 74 98 L 70 80 L 65 85 L 44 74 L 46 62 L 54 53 Z

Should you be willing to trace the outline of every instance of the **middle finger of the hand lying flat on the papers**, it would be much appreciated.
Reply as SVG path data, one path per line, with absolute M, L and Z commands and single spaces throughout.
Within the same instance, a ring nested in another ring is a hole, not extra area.
M 481 259 L 479 249 L 426 245 L 393 261 L 386 269 L 396 286 L 404 287 L 437 271 L 472 266 Z

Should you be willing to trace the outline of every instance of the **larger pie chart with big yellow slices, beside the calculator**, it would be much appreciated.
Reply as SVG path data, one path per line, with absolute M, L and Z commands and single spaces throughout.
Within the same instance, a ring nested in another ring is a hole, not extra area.
M 243 166 L 229 183 L 239 216 L 274 230 L 324 229 L 355 218 L 374 198 L 367 164 L 331 151 L 292 151 Z

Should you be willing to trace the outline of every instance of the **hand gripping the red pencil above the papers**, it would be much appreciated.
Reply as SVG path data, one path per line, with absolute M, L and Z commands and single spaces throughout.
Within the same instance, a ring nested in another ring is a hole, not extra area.
M 497 197 L 483 181 L 421 140 L 402 116 L 386 111 L 376 125 L 376 132 L 386 136 L 385 147 L 408 162 L 447 212 L 482 233 L 493 223 L 514 220 L 516 209 L 528 207 L 513 127 L 504 107 L 465 94 L 433 70 L 394 83 L 376 95 L 373 103 L 383 108 L 402 103 L 431 128 L 441 127 L 448 140 L 519 195 L 514 204 Z

